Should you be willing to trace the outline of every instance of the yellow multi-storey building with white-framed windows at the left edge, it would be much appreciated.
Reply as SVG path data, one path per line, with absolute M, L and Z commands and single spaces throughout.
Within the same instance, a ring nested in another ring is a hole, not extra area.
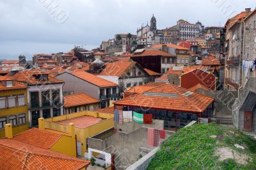
M 0 137 L 5 137 L 6 123 L 12 124 L 14 135 L 28 130 L 27 88 L 10 77 L 0 77 Z

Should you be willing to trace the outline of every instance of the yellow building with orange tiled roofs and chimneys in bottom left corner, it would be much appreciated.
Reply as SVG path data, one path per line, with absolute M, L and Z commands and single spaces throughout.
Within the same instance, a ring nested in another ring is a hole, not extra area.
M 40 128 L 44 128 L 44 118 L 39 121 Z M 3 153 L 0 157 L 1 167 L 4 169 L 86 169 L 90 161 L 67 154 L 70 148 L 76 150 L 74 125 L 70 124 L 68 127 L 70 136 L 38 128 L 31 128 L 13 135 L 12 125 L 6 124 L 6 138 L 0 139 L 0 153 Z M 8 162 L 8 160 L 12 161 Z

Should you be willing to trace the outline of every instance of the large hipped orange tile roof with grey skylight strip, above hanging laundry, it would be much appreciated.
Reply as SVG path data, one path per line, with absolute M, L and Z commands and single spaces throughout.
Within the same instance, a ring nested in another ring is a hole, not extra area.
M 173 84 L 163 84 L 144 93 L 131 95 L 114 104 L 199 113 L 204 112 L 213 101 L 213 98 L 200 93 L 191 92 Z

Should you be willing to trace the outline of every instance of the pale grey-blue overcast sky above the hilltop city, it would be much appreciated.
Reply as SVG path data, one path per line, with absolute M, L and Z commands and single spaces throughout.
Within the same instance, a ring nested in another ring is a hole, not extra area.
M 90 50 L 117 33 L 136 34 L 153 13 L 157 29 L 179 19 L 223 26 L 230 15 L 255 6 L 254 0 L 1 0 L 0 59 L 31 59 L 74 45 Z

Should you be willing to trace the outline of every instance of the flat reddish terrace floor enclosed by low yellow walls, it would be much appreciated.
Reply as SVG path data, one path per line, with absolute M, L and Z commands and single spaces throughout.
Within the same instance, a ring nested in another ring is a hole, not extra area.
M 99 123 L 104 120 L 103 118 L 95 118 L 93 116 L 80 116 L 77 118 L 72 118 L 68 120 L 58 121 L 56 123 L 60 125 L 68 125 L 68 123 L 74 123 L 76 128 L 87 128 L 92 125 Z

